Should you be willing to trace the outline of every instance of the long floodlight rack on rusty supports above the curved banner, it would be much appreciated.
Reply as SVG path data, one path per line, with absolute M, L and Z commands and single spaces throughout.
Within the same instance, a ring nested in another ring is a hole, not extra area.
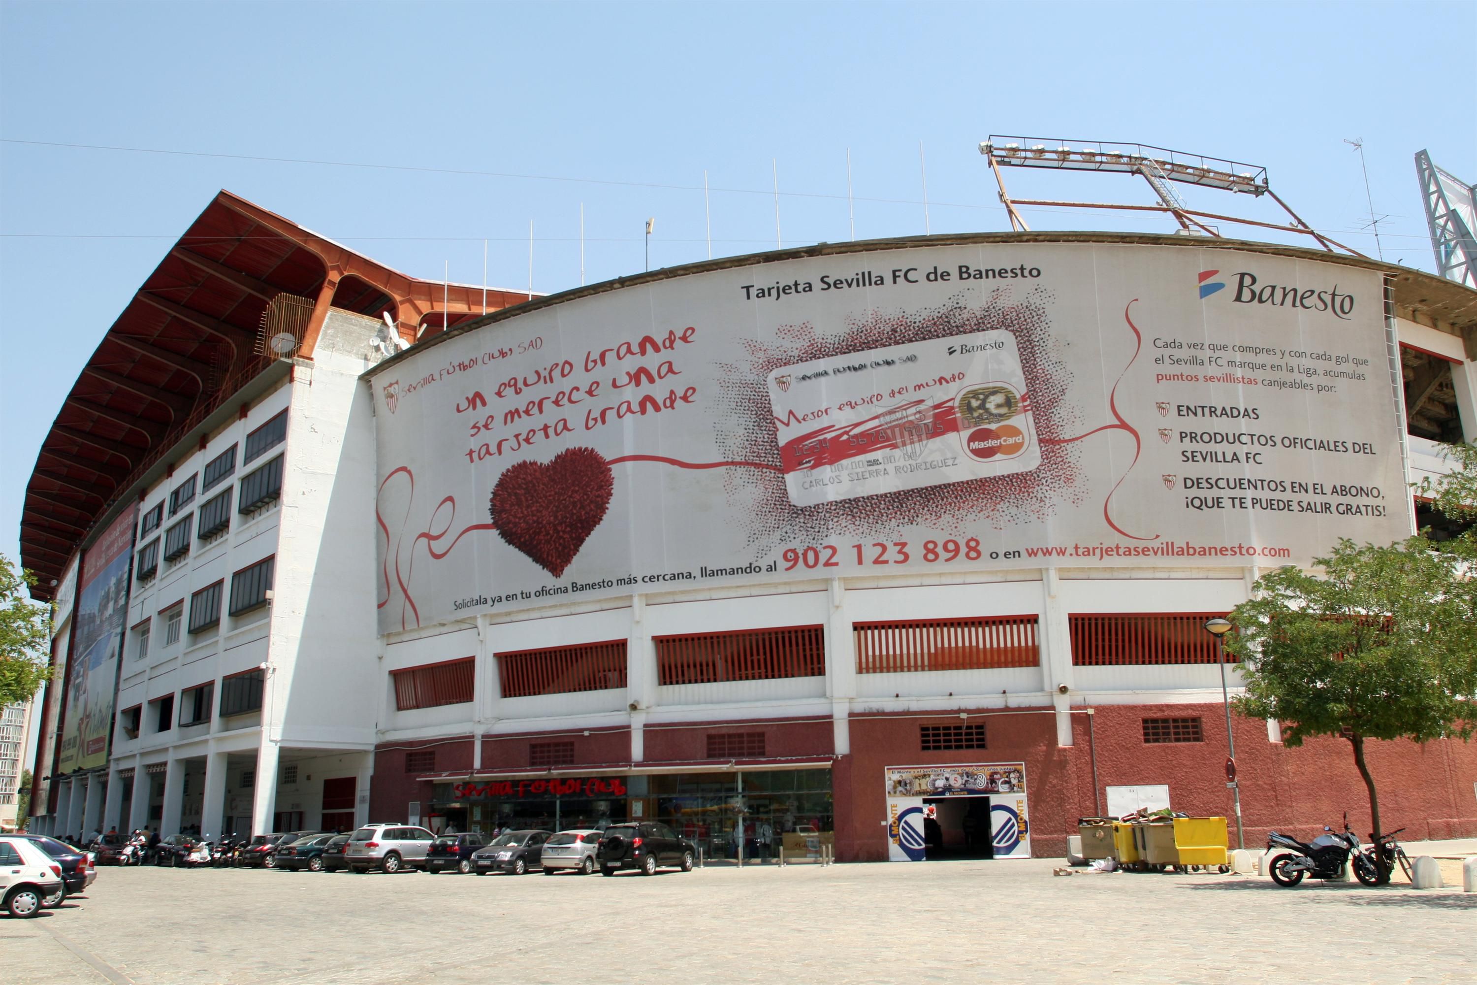
M 1267 183 L 1267 168 L 1255 164 L 1242 164 L 1224 158 L 1210 158 L 1201 154 L 1185 154 L 1165 148 L 1152 148 L 1145 143 L 1117 143 L 1105 140 L 1059 140 L 1043 137 L 1010 137 L 990 134 L 990 139 L 979 145 L 979 152 L 990 161 L 990 170 L 1000 186 L 1000 201 L 1010 217 L 1010 227 L 1016 232 L 1028 232 L 1025 219 L 1016 210 L 1018 205 L 1053 205 L 1058 208 L 1120 208 L 1128 211 L 1168 213 L 1180 224 L 1180 232 L 1188 235 L 1205 235 L 1220 238 L 1220 230 L 1208 226 L 1202 219 L 1224 223 L 1239 223 L 1244 226 L 1260 226 L 1263 229 L 1279 229 L 1312 236 L 1329 253 L 1337 247 L 1356 257 L 1363 255 L 1356 250 L 1334 242 L 1319 233 L 1312 226 L 1298 219 L 1286 202 L 1278 198 Z M 1006 192 L 1001 167 L 1031 167 L 1055 168 L 1058 171 L 1115 171 L 1118 174 L 1137 174 L 1159 199 L 1158 205 L 1125 205 L 1121 202 L 1062 202 L 1050 199 L 1010 198 Z M 1282 207 L 1292 224 L 1264 223 L 1255 219 L 1241 219 L 1238 216 L 1221 216 L 1217 213 L 1202 213 L 1189 208 L 1176 195 L 1171 182 L 1183 185 L 1198 185 L 1201 188 L 1216 188 L 1223 192 L 1239 192 L 1260 198 L 1267 195 Z

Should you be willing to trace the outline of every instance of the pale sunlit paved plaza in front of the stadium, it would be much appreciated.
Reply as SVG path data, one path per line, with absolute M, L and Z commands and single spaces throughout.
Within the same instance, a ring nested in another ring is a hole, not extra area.
M 1060 862 L 653 879 L 103 868 L 0 919 L 19 985 L 1474 982 L 1477 893 Z

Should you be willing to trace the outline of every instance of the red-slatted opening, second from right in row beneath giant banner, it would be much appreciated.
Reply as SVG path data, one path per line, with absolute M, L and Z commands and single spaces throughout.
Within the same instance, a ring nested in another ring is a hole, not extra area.
M 857 673 L 1034 667 L 1035 626 L 1035 616 L 855 623 Z

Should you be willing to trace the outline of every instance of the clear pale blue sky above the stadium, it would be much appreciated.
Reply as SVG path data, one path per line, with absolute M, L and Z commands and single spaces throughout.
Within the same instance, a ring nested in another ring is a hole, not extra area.
M 471 4 L 0 1 L 0 551 L 99 338 L 217 189 L 408 273 L 524 288 L 786 245 L 1007 229 L 990 133 L 1131 140 L 1266 165 L 1319 229 L 1430 270 L 1412 155 L 1477 177 L 1477 4 Z M 108 145 L 546 176 L 182 157 Z M 1149 202 L 1124 177 L 1018 196 Z M 672 188 L 642 188 L 679 186 Z M 733 191 L 747 189 L 747 191 Z M 1189 189 L 1192 207 L 1275 219 Z M 877 201 L 894 199 L 894 201 Z M 898 201 L 901 199 L 901 201 Z M 1164 219 L 1032 213 L 1040 229 Z M 1230 230 L 1227 230 L 1230 232 Z

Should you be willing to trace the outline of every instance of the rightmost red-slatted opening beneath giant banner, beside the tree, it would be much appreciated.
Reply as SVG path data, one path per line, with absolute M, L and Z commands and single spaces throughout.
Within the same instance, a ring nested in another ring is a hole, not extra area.
M 1235 663 L 1205 632 L 1226 613 L 1074 613 L 1068 616 L 1072 663 L 1080 667 Z

